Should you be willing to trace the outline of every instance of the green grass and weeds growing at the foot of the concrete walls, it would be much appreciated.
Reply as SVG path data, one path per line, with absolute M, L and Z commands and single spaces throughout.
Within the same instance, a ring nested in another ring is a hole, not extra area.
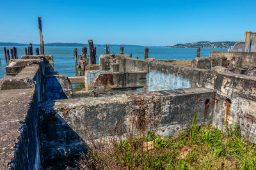
M 241 136 L 239 124 L 226 123 L 225 131 L 198 127 L 195 113 L 187 131 L 168 138 L 148 131 L 147 136 L 114 141 L 79 164 L 81 169 L 255 169 L 256 146 Z

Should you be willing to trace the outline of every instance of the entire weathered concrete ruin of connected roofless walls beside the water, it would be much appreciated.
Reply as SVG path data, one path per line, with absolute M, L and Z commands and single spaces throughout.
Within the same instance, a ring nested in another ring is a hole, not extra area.
M 0 80 L 0 169 L 76 167 L 91 135 L 166 137 L 189 127 L 194 111 L 198 124 L 221 130 L 226 120 L 256 117 L 255 65 L 256 52 L 184 61 L 104 54 L 84 76 L 68 78 L 54 71 L 52 55 L 10 60 Z M 74 92 L 72 83 L 85 88 Z

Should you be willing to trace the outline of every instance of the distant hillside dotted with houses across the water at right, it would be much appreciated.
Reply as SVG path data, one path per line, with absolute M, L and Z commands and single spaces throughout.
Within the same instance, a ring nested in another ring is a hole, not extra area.
M 210 41 L 199 41 L 197 43 L 185 43 L 177 44 L 173 46 L 166 46 L 169 48 L 231 48 L 234 46 L 236 41 L 219 41 L 219 42 L 210 42 Z

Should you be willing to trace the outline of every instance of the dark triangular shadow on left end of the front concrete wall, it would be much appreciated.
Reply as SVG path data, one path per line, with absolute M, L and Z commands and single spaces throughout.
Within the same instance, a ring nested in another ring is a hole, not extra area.
M 50 102 L 54 104 L 54 102 Z M 40 114 L 40 139 L 43 169 L 66 169 L 66 166 L 76 167 L 76 160 L 81 154 L 86 154 L 86 145 L 81 136 L 52 109 L 47 106 L 39 106 Z M 47 107 L 47 108 L 45 108 Z M 65 113 L 68 110 L 62 110 Z M 76 121 L 76 120 L 74 120 Z

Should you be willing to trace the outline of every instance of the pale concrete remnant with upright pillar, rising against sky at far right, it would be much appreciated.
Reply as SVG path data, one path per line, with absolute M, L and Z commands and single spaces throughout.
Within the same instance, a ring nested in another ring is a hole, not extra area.
M 246 31 L 244 34 L 244 41 L 237 42 L 233 48 L 231 48 L 230 52 L 256 52 L 256 32 Z

